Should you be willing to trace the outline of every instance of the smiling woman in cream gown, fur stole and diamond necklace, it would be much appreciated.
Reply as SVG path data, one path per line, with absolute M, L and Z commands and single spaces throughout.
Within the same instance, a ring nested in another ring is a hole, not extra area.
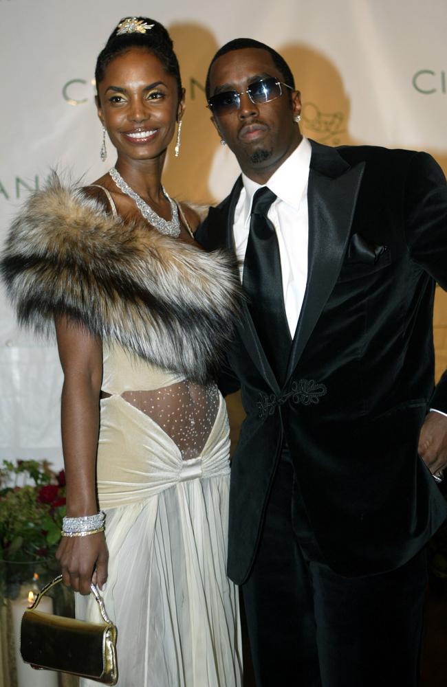
M 193 245 L 195 212 L 162 187 L 184 113 L 164 27 L 123 19 L 96 84 L 115 167 L 84 190 L 55 180 L 35 194 L 3 260 L 19 319 L 56 322 L 67 476 L 57 557 L 78 616 L 96 618 L 91 580 L 102 589 L 118 684 L 231 687 L 241 648 L 225 573 L 228 421 L 210 379 L 237 275 Z

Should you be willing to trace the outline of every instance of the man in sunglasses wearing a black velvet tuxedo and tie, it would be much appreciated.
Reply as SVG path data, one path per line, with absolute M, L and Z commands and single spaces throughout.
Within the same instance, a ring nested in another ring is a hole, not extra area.
M 257 684 L 411 687 L 446 515 L 444 175 L 425 153 L 304 139 L 290 69 L 248 38 L 217 52 L 207 98 L 243 173 L 197 239 L 235 250 L 248 295 L 221 385 L 247 414 L 228 572 Z

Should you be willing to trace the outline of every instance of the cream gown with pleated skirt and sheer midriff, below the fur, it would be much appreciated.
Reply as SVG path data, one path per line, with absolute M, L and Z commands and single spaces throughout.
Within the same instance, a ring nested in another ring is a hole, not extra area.
M 229 428 L 214 385 L 104 351 L 98 497 L 105 607 L 120 687 L 239 687 L 237 588 L 226 576 Z M 98 619 L 93 596 L 76 615 Z M 82 687 L 97 682 L 81 679 Z

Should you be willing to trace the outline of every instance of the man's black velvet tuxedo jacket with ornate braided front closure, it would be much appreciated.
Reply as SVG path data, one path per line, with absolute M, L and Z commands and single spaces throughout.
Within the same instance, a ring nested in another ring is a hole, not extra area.
M 311 142 L 307 289 L 279 387 L 246 305 L 223 392 L 246 420 L 232 461 L 228 572 L 248 575 L 283 438 L 326 563 L 347 576 L 392 570 L 446 515 L 417 455 L 434 389 L 433 297 L 447 289 L 447 188 L 426 153 Z M 232 249 L 241 190 L 196 238 Z M 281 333 L 278 333 L 280 336 Z

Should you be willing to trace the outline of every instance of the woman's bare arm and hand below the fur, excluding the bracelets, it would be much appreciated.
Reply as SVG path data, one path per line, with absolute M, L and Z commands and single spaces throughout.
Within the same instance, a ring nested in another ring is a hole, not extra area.
M 96 450 L 99 398 L 102 383 L 102 345 L 66 317 L 56 320 L 59 357 L 64 373 L 62 444 L 67 482 L 67 516 L 98 512 Z M 101 588 L 107 579 L 107 545 L 103 532 L 63 537 L 56 552 L 63 581 L 75 592 L 89 594 L 93 581 Z

